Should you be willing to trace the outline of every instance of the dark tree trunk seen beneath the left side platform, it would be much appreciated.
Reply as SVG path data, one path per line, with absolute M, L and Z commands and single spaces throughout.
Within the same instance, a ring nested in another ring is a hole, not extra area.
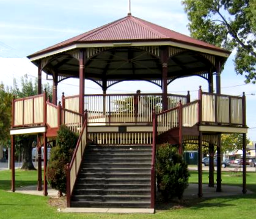
M 35 140 L 35 137 L 32 135 L 23 137 L 23 164 L 21 170 L 36 170 L 32 162 L 32 143 Z

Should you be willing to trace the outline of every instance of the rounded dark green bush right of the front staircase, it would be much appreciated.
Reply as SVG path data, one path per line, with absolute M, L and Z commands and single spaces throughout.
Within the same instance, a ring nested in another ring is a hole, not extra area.
M 188 187 L 188 165 L 178 154 L 178 149 L 168 143 L 159 146 L 156 151 L 156 181 L 158 190 L 167 201 L 178 197 L 182 198 Z

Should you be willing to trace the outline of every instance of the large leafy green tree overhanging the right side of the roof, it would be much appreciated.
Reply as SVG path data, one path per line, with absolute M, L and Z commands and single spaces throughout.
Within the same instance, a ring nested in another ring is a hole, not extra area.
M 183 0 L 191 36 L 235 51 L 235 71 L 256 81 L 256 0 Z

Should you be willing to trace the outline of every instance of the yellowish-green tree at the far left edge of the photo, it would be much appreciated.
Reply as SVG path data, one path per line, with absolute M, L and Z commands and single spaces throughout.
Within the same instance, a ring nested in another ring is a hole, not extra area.
M 10 141 L 12 94 L 4 84 L 0 84 L 0 99 L 0 144 L 6 145 Z

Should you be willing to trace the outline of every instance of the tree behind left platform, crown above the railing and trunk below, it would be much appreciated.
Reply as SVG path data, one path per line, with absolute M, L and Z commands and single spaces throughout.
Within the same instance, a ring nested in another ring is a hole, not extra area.
M 43 87 L 46 88 L 46 92 L 51 95 L 51 87 L 49 84 L 45 84 Z M 21 77 L 21 88 L 18 86 L 16 81 L 14 81 L 12 92 L 13 95 L 15 95 L 15 98 L 24 98 L 27 96 L 37 95 L 37 79 L 33 84 L 32 80 L 29 80 L 27 75 Z M 23 165 L 21 167 L 23 170 L 35 169 L 32 163 L 32 143 L 35 140 L 35 135 L 20 135 L 18 137 L 18 141 L 21 143 L 21 150 L 23 153 Z

